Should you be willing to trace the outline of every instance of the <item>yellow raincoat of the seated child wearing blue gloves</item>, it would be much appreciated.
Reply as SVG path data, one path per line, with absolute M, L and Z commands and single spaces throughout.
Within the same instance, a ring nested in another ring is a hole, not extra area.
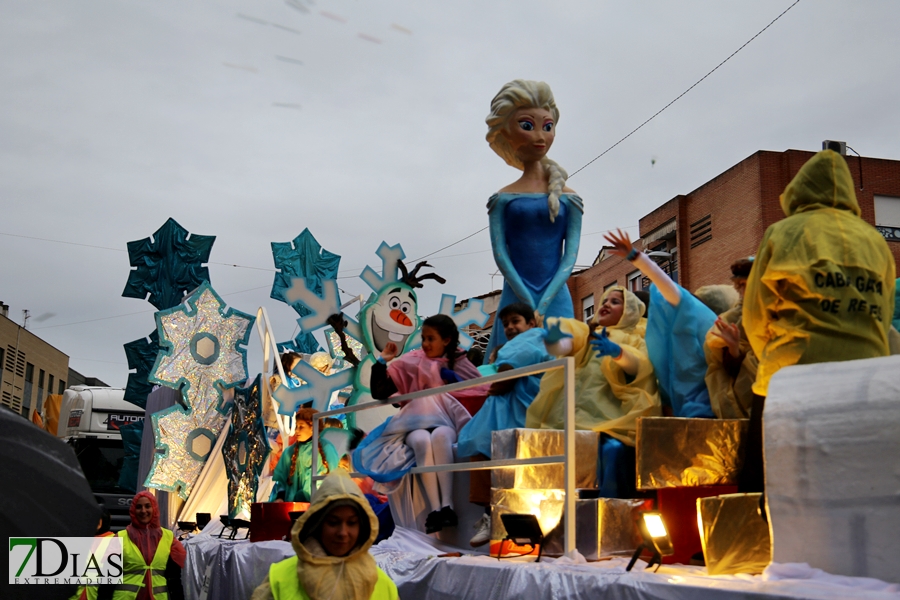
M 638 361 L 634 379 L 626 381 L 625 372 L 609 356 L 597 358 L 590 344 L 590 327 L 575 319 L 559 319 L 560 328 L 572 335 L 575 357 L 575 427 L 611 435 L 634 446 L 638 417 L 662 414 L 653 365 L 647 356 L 643 331 L 646 321 L 644 303 L 623 287 L 613 287 L 603 294 L 600 303 L 613 291 L 625 296 L 625 310 L 619 322 L 608 327 L 609 339 L 622 346 Z M 553 321 L 548 319 L 548 323 Z M 565 427 L 564 372 L 550 371 L 541 379 L 541 389 L 528 407 L 525 426 L 530 429 L 563 429 Z M 630 378 L 629 378 L 630 379 Z

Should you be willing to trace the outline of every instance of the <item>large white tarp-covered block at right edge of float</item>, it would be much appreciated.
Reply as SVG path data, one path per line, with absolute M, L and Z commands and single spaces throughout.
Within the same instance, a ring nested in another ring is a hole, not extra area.
M 773 560 L 900 583 L 900 356 L 780 370 L 764 426 Z

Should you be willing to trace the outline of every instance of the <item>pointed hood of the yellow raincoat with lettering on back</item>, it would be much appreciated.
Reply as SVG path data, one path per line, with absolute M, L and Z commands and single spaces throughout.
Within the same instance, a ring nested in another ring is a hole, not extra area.
M 834 150 L 822 150 L 809 159 L 781 195 L 781 209 L 787 216 L 820 208 L 860 215 L 847 161 Z

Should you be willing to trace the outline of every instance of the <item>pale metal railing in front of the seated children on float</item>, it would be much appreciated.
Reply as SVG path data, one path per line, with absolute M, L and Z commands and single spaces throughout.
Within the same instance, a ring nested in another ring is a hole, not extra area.
M 412 469 L 410 469 L 409 473 L 412 475 L 418 475 L 420 473 L 439 473 L 448 471 L 480 471 L 486 469 L 497 469 L 500 467 L 525 467 L 531 465 L 549 465 L 562 463 L 563 465 L 565 465 L 564 488 L 566 493 L 563 509 L 565 519 L 565 535 L 563 544 L 564 551 L 571 552 L 575 549 L 575 359 L 572 357 L 558 358 L 556 360 L 551 360 L 528 367 L 522 367 L 520 369 L 503 371 L 502 373 L 497 373 L 496 375 L 468 379 L 466 381 L 452 383 L 450 385 L 445 385 L 439 388 L 421 390 L 418 392 L 413 392 L 411 394 L 404 394 L 402 396 L 394 396 L 390 400 L 386 400 L 384 402 L 376 400 L 374 402 L 364 402 L 362 404 L 356 404 L 354 406 L 345 406 L 343 408 L 336 408 L 334 410 L 327 410 L 317 413 L 316 417 L 313 419 L 313 448 L 318 448 L 319 446 L 319 419 L 359 412 L 370 408 L 378 408 L 384 406 L 387 402 L 405 402 L 407 400 L 415 400 L 416 398 L 424 398 L 426 396 L 434 396 L 436 394 L 446 394 L 458 390 L 477 387 L 479 385 L 484 385 L 487 383 L 507 381 L 510 379 L 518 379 L 519 377 L 523 377 L 525 375 L 536 375 L 538 373 L 546 373 L 547 371 L 555 371 L 556 369 L 563 369 L 565 382 L 563 385 L 563 397 L 565 398 L 566 402 L 563 454 L 559 454 L 556 456 L 540 456 L 536 458 L 507 458 L 501 460 L 485 460 L 479 462 L 434 465 L 431 467 L 413 467 Z M 312 473 L 318 473 L 318 459 L 319 453 L 313 452 L 311 465 Z M 320 479 L 324 479 L 324 477 L 324 475 L 313 475 L 311 493 L 315 493 L 317 482 Z

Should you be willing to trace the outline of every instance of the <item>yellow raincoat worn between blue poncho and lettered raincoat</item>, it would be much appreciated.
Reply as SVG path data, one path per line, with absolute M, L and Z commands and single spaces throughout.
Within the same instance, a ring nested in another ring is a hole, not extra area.
M 706 388 L 709 390 L 709 404 L 720 419 L 748 419 L 750 417 L 750 405 L 753 403 L 753 383 L 756 381 L 756 371 L 759 361 L 753 354 L 747 333 L 741 323 L 743 304 L 728 310 L 719 318 L 726 323 L 737 323 L 741 331 L 740 351 L 741 368 L 737 377 L 732 379 L 725 370 L 723 357 L 728 352 L 728 346 L 719 336 L 713 332 L 717 330 L 713 325 L 706 333 L 706 342 L 703 344 L 703 352 L 706 355 Z

